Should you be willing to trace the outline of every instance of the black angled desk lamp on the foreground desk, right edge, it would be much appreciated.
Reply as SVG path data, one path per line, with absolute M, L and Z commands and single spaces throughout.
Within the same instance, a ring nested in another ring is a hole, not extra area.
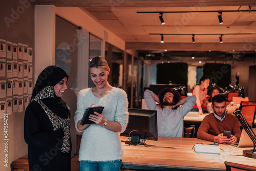
M 253 142 L 253 149 L 245 149 L 243 151 L 243 156 L 256 159 L 256 135 L 251 130 L 251 127 L 240 110 L 234 111 L 233 114 L 237 116 L 239 122 L 242 124 L 244 130 Z

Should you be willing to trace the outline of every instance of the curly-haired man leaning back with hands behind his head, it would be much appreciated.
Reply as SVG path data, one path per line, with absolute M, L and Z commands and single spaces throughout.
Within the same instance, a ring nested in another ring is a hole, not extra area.
M 184 116 L 196 103 L 196 96 L 181 99 L 178 91 L 166 87 L 159 92 L 159 96 L 150 90 L 144 92 L 147 108 L 157 111 L 158 136 L 182 137 Z M 159 108 L 156 104 L 161 106 Z M 182 105 L 180 107 L 180 105 Z

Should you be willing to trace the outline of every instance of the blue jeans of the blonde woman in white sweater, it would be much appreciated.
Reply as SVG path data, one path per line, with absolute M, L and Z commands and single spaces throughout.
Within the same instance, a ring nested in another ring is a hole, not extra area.
M 80 171 L 118 171 L 121 167 L 122 160 L 114 161 L 80 161 Z

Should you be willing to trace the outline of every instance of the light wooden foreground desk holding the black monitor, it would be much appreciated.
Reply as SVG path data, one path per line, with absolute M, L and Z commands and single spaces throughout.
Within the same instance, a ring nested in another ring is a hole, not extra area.
M 121 140 L 126 140 L 122 137 Z M 224 161 L 256 166 L 256 159 L 242 156 L 243 149 L 220 144 L 221 155 L 195 154 L 191 149 L 196 143 L 212 142 L 197 138 L 159 137 L 158 141 L 146 140 L 146 144 L 163 147 L 129 146 L 122 142 L 124 159 L 121 169 L 141 170 L 226 170 Z

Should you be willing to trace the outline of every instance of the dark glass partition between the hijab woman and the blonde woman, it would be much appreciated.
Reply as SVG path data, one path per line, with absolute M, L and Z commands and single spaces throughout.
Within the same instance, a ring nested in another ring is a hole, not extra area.
M 78 46 L 77 38 L 78 27 L 71 24 L 65 19 L 56 16 L 55 27 L 55 66 L 58 66 L 66 71 L 69 75 L 67 89 L 61 97 L 70 109 L 70 132 L 76 134 L 75 130 L 75 111 L 77 103 L 77 61 L 78 61 Z M 72 144 L 76 144 L 76 136 L 71 136 Z M 75 153 L 75 145 L 73 145 L 71 154 Z

